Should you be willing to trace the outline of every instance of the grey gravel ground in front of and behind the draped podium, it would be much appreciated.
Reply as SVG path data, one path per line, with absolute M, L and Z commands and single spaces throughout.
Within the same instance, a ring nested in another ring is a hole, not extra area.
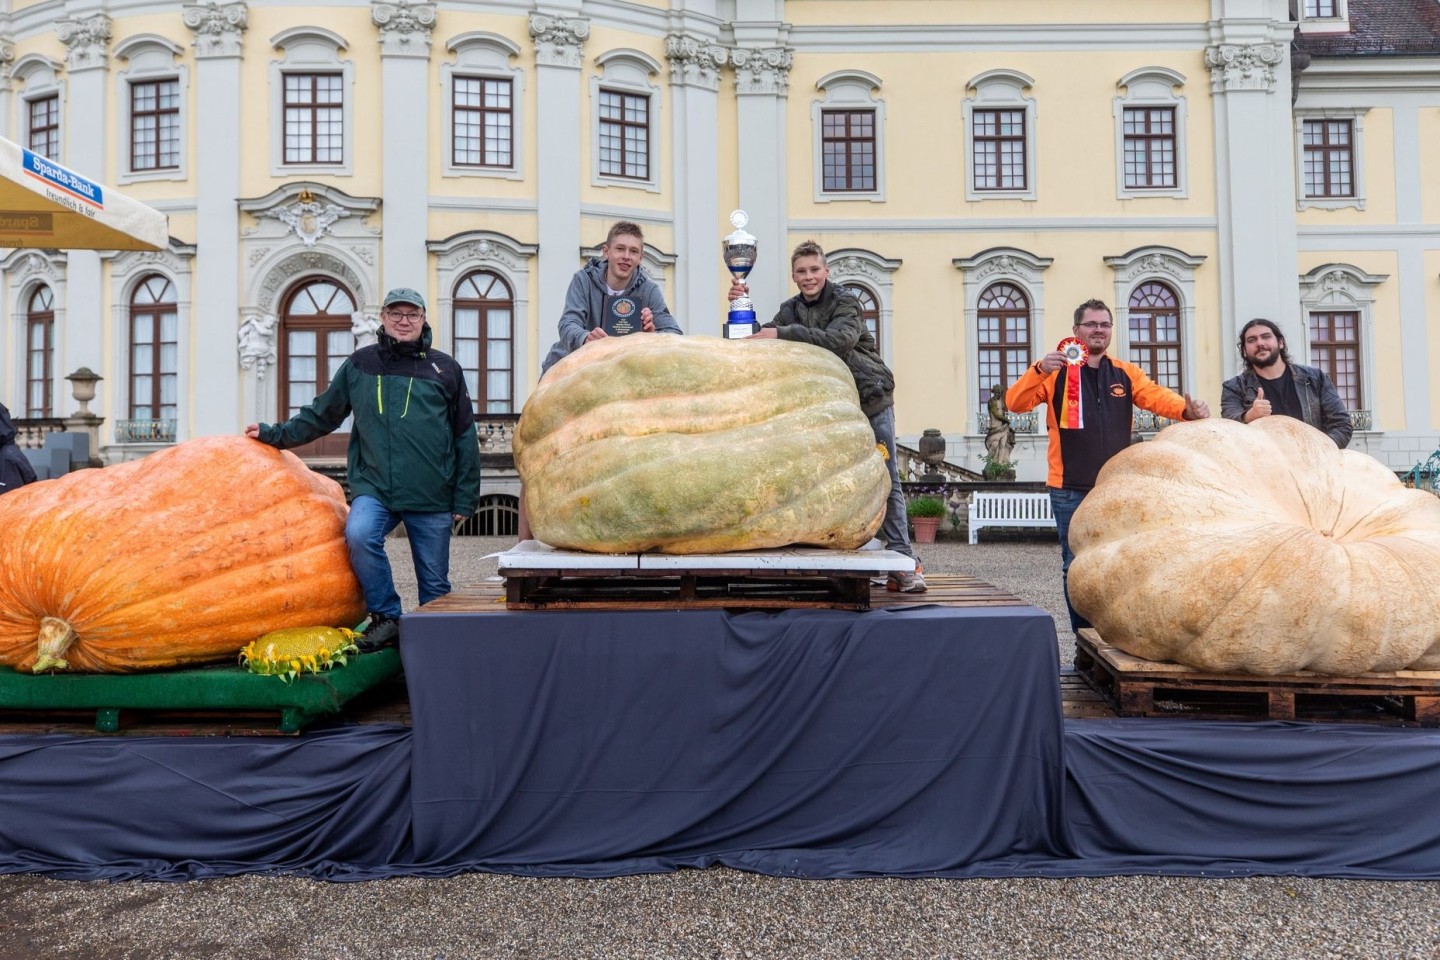
M 485 554 L 511 543 L 456 541 L 452 579 L 494 574 Z M 405 543 L 390 548 L 408 577 Z M 969 573 L 1004 587 L 1050 610 L 1060 628 L 1054 540 L 942 541 L 923 547 L 922 558 L 927 573 Z M 402 593 L 413 593 L 413 580 L 402 583 Z M 1073 655 L 1068 632 L 1060 649 L 1063 659 Z M 798 881 L 721 868 L 618 879 L 471 874 L 363 884 L 0 877 L 0 960 L 1437 956 L 1440 882 Z

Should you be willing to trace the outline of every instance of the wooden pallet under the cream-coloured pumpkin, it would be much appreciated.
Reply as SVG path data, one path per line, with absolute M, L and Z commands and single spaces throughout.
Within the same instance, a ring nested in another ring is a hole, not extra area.
M 1094 629 L 1076 636 L 1076 672 L 1122 717 L 1205 720 L 1329 720 L 1440 727 L 1440 672 L 1359 676 L 1205 674 L 1146 661 L 1106 643 Z

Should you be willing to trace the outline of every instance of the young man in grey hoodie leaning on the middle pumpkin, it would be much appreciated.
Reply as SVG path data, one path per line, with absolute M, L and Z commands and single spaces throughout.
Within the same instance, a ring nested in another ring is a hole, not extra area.
M 560 314 L 560 338 L 540 364 L 540 376 L 544 376 L 560 357 L 569 356 L 592 340 L 609 335 L 605 332 L 605 318 L 612 308 L 618 314 L 639 308 L 639 328 L 647 334 L 681 332 L 680 324 L 665 307 L 665 294 L 641 269 L 639 262 L 644 255 L 645 236 L 638 225 L 621 220 L 611 227 L 600 248 L 600 256 L 590 259 L 570 279 L 570 289 L 564 295 L 564 312 Z

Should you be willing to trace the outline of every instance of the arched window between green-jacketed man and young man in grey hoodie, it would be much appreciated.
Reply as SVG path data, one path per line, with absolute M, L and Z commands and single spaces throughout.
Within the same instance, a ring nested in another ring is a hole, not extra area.
M 475 416 L 514 412 L 516 298 L 488 271 L 455 285 L 455 360 L 475 402 Z

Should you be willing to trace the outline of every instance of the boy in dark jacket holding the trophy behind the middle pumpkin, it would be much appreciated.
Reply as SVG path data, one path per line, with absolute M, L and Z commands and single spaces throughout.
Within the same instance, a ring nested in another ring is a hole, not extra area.
M 791 279 L 801 292 L 780 304 L 775 320 L 765 324 L 752 340 L 799 340 L 815 344 L 850 367 L 855 389 L 860 391 L 860 409 L 870 417 L 876 443 L 884 446 L 886 465 L 890 468 L 890 499 L 886 502 L 880 538 L 886 541 L 888 550 L 914 557 L 904 489 L 900 486 L 900 469 L 896 465 L 894 374 L 880 357 L 876 338 L 860 317 L 860 301 L 829 282 L 829 266 L 819 243 L 805 240 L 795 248 L 791 253 Z M 749 296 L 749 288 L 734 281 L 730 285 L 729 299 L 740 296 Z M 893 589 L 904 593 L 926 590 L 919 563 L 914 573 L 891 573 L 890 581 Z

